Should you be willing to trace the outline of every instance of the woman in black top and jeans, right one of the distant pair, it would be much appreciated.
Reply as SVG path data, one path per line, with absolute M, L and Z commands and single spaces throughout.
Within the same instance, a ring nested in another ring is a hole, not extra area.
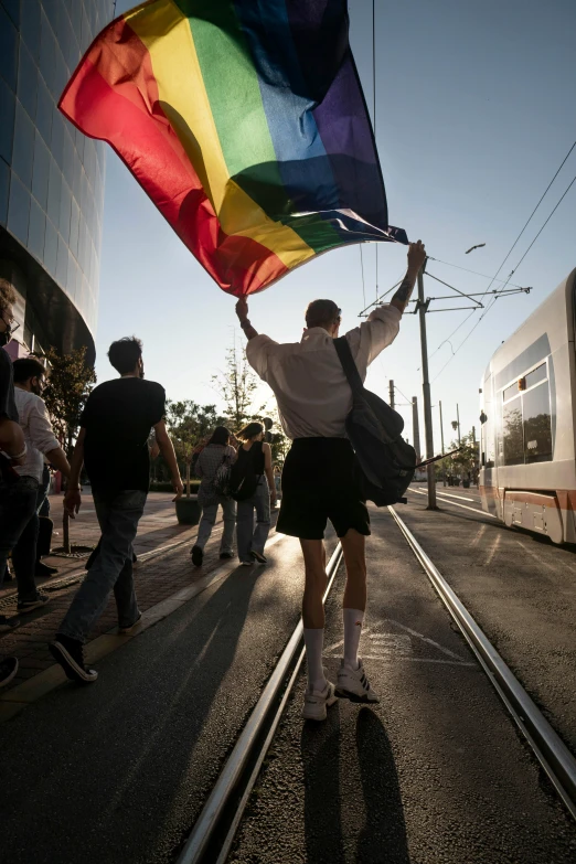
M 271 470 L 270 445 L 263 441 L 262 423 L 249 423 L 236 433 L 242 444 L 235 471 L 238 477 L 255 478 L 254 491 L 238 500 L 236 515 L 236 545 L 241 565 L 247 567 L 254 562 L 266 564 L 264 547 L 270 531 L 270 504 L 276 504 L 276 486 Z M 254 513 L 256 512 L 256 526 Z

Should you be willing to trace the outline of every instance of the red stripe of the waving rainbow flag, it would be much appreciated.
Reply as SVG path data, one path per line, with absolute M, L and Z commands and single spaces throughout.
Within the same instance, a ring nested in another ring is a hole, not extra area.
M 222 230 L 161 108 L 150 55 L 124 19 L 95 40 L 58 107 L 85 135 L 108 141 L 224 291 L 254 294 L 287 271 L 266 246 Z

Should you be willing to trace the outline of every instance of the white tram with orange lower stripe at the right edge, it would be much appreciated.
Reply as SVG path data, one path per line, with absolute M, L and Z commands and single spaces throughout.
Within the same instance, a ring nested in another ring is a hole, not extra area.
M 576 543 L 576 269 L 492 356 L 481 382 L 482 508 Z

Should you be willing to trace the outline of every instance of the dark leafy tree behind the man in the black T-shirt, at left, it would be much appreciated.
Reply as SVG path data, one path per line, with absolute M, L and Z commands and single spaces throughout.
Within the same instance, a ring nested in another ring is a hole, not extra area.
M 86 363 L 86 348 L 70 354 L 60 354 L 55 348 L 51 348 L 45 356 L 50 375 L 42 398 L 50 412 L 56 437 L 70 459 L 82 412 L 96 384 L 96 373 Z

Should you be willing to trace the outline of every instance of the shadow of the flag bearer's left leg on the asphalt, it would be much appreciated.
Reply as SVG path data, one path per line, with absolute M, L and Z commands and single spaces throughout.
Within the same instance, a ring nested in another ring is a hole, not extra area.
M 305 780 L 306 861 L 344 861 L 340 793 L 340 711 L 337 703 L 326 723 L 302 726 L 300 750 Z

